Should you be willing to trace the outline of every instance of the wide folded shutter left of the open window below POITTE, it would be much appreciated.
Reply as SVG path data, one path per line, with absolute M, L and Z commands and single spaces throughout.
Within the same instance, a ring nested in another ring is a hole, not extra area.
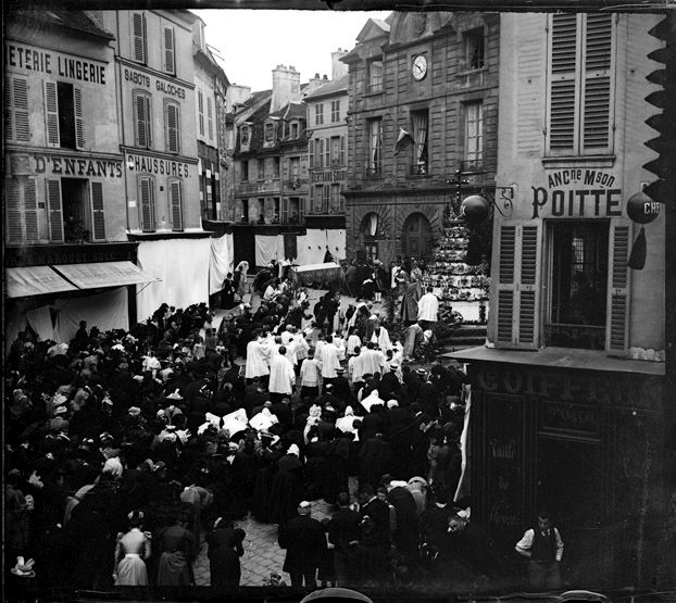
M 540 225 L 505 223 L 500 227 L 495 343 L 497 348 L 539 347 Z

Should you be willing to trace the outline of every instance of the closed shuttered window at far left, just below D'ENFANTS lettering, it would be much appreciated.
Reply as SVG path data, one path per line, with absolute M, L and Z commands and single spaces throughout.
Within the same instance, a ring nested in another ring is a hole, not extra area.
M 4 224 L 8 243 L 38 241 L 39 223 L 43 219 L 43 213 L 45 210 L 38 208 L 35 178 L 4 179 Z

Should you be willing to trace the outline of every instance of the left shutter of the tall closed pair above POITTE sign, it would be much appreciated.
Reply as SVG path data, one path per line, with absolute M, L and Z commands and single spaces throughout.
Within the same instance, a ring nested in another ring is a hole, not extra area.
M 548 131 L 549 148 L 554 153 L 573 153 L 576 145 L 577 23 L 576 14 L 552 16 Z

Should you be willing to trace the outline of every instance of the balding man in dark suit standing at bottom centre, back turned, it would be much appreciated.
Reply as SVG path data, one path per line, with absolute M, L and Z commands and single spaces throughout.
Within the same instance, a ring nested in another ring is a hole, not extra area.
M 291 577 L 292 587 L 315 588 L 317 567 L 327 555 L 326 537 L 322 524 L 310 516 L 312 505 L 302 501 L 298 505 L 298 517 L 279 526 L 279 547 L 286 549 L 283 569 Z

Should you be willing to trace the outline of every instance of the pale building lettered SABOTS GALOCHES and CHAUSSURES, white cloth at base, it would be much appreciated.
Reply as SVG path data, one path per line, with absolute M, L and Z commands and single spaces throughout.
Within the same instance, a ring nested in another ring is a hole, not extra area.
M 128 237 L 139 243 L 139 264 L 161 279 L 139 288 L 143 319 L 163 302 L 186 306 L 209 298 L 210 233 L 201 224 L 196 136 L 202 81 L 196 85 L 197 17 L 135 10 L 103 11 L 102 17 L 116 38 Z M 210 98 L 213 120 L 213 87 Z M 208 136 L 208 112 L 204 117 Z

